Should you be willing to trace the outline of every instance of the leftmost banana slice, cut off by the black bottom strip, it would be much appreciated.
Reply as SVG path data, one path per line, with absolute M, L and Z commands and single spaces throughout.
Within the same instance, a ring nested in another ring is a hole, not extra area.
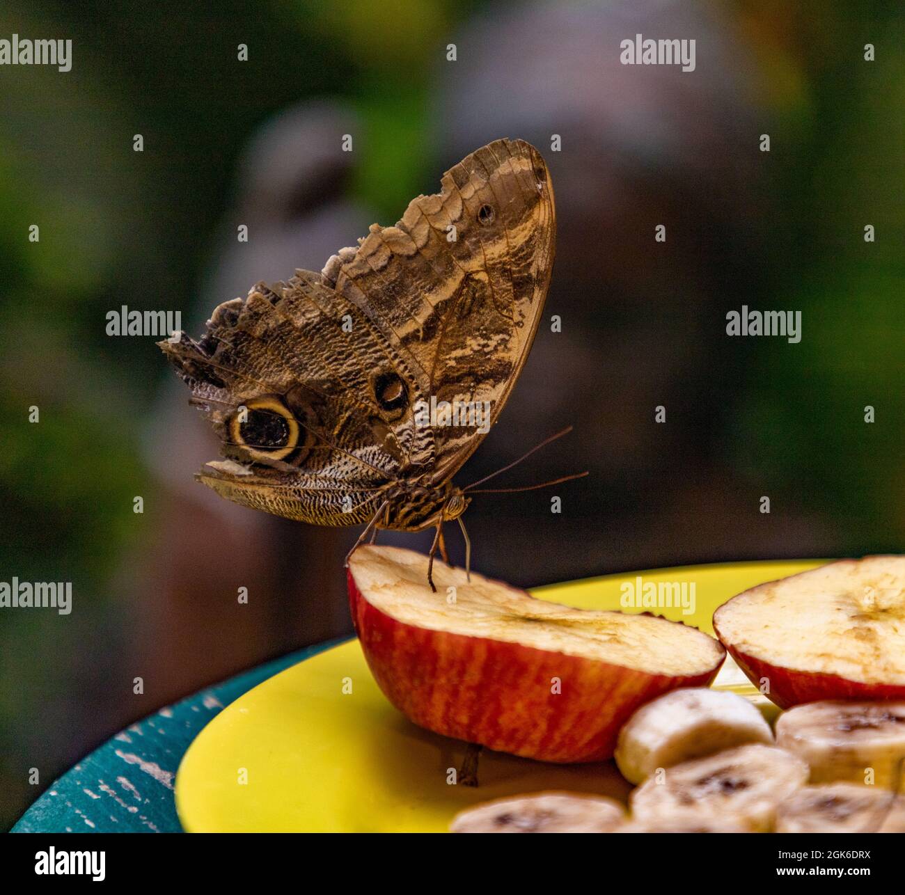
M 450 833 L 609 833 L 624 819 L 624 807 L 605 796 L 535 793 L 467 808 Z

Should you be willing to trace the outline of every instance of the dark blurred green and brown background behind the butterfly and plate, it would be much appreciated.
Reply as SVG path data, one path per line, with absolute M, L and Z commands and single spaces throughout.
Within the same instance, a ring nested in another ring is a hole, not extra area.
M 198 335 L 493 138 L 547 158 L 557 263 L 459 481 L 566 424 L 500 485 L 591 476 L 558 515 L 549 491 L 475 500 L 475 567 L 530 586 L 905 546 L 900 3 L 6 0 L 12 33 L 71 38 L 73 64 L 0 67 L 0 580 L 71 581 L 73 611 L 0 610 L 0 825 L 130 721 L 350 630 L 357 531 L 196 484 L 212 433 L 107 312 L 179 309 Z M 635 33 L 694 38 L 696 70 L 621 65 Z M 800 310 L 800 344 L 727 337 L 743 304 Z

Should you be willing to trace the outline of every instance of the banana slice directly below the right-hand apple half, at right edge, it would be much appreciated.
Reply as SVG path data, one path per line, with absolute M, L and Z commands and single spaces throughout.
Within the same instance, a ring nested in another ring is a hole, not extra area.
M 905 781 L 905 702 L 809 702 L 776 721 L 776 745 L 805 759 L 811 783 L 887 789 Z

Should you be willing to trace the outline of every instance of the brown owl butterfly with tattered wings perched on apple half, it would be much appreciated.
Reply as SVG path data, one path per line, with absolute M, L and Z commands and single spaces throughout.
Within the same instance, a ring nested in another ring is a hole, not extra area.
M 452 475 L 528 357 L 556 215 L 522 140 L 472 152 L 441 186 L 320 273 L 224 302 L 199 341 L 159 343 L 223 440 L 200 481 L 287 519 L 367 522 L 358 543 L 433 527 L 432 564 L 443 522 L 458 519 L 468 545 L 471 497 Z

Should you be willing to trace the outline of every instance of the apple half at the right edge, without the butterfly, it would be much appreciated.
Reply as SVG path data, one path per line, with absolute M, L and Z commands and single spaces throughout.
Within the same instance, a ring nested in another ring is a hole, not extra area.
M 752 587 L 719 607 L 713 628 L 781 709 L 905 700 L 905 557 L 843 559 Z

